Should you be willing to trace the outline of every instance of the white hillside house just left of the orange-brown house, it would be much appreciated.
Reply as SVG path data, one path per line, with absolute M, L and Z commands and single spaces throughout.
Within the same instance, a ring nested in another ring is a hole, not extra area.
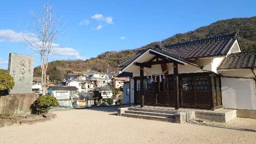
M 94 71 L 88 72 L 88 80 L 97 87 L 107 86 L 109 82 L 108 74 Z

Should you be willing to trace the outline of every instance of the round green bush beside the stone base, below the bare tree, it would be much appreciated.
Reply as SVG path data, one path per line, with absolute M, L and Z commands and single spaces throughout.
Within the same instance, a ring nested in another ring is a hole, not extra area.
M 59 102 L 54 96 L 39 96 L 30 106 L 32 114 L 47 113 L 52 106 L 59 106 Z

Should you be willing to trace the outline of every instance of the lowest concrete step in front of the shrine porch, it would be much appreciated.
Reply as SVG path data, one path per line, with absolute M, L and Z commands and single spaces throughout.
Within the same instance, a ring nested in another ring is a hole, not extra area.
M 142 118 L 142 119 L 147 119 L 147 120 L 158 120 L 158 121 L 163 121 L 163 122 L 176 122 L 175 121 L 175 116 L 173 117 L 164 117 L 164 116 L 149 116 L 149 115 L 144 115 L 144 114 L 128 114 L 124 113 L 122 116 L 125 117 L 130 117 L 130 118 Z

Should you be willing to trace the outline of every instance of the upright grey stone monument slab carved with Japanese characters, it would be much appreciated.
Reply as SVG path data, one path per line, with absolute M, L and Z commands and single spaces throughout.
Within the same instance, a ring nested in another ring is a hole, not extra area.
M 32 93 L 34 57 L 10 53 L 8 71 L 15 82 L 10 94 Z

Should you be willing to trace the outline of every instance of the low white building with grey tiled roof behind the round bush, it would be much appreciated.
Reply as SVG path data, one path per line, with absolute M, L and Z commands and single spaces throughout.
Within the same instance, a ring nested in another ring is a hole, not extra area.
M 78 98 L 78 88 L 76 86 L 49 86 L 48 94 L 57 99 Z

